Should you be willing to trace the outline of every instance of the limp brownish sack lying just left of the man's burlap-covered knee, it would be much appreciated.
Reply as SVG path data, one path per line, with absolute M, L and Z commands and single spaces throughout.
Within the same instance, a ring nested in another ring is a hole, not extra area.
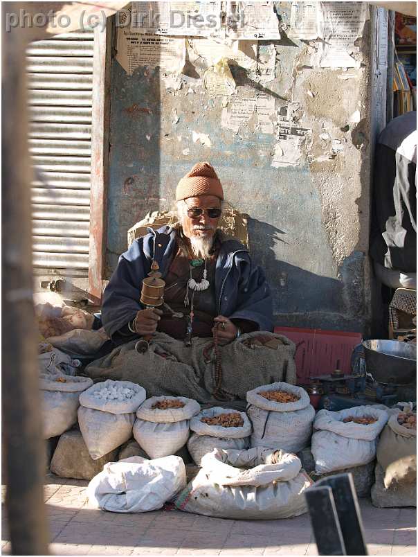
M 58 337 L 49 337 L 47 342 L 73 357 L 89 356 L 96 353 L 109 340 L 104 328 L 99 330 L 73 329 Z

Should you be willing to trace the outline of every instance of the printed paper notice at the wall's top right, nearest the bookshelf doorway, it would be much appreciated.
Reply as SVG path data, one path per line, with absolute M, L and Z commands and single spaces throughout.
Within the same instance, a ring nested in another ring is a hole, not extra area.
M 360 62 L 352 54 L 359 51 L 356 39 L 363 36 L 368 16 L 365 2 L 318 2 L 318 36 L 322 39 L 322 68 L 354 68 Z

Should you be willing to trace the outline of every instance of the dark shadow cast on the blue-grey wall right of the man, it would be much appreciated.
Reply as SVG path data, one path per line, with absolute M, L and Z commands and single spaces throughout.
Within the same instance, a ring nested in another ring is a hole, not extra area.
M 287 243 L 286 233 L 267 222 L 248 218 L 248 238 L 251 256 L 272 288 L 276 325 L 363 332 L 361 252 L 345 258 L 338 280 L 278 260 L 275 245 Z

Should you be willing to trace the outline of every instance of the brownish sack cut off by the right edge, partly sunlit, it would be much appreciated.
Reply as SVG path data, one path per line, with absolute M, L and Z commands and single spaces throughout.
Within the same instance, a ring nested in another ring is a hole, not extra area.
M 415 423 L 414 423 L 415 420 Z M 377 445 L 377 461 L 383 469 L 385 488 L 411 485 L 417 481 L 417 414 L 399 412 L 390 416 Z

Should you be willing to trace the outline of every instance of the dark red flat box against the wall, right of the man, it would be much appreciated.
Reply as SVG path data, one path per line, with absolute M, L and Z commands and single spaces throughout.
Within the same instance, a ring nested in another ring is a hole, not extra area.
M 350 360 L 354 346 L 362 339 L 361 333 L 339 330 L 275 327 L 275 333 L 284 335 L 296 344 L 296 370 L 298 384 L 308 384 L 309 377 L 327 375 L 336 369 L 351 373 Z

